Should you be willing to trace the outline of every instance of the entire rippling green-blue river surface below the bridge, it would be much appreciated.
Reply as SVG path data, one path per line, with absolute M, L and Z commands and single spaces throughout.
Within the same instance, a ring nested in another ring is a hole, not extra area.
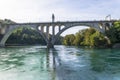
M 0 80 L 120 80 L 120 50 L 0 48 Z

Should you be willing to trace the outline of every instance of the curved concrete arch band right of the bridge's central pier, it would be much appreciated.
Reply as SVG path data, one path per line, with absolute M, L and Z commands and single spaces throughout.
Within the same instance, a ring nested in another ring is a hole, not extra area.
M 72 27 L 77 27 L 77 26 L 87 26 L 87 27 L 92 27 L 94 29 L 97 29 L 99 30 L 100 32 L 102 32 L 100 30 L 100 26 L 98 24 L 96 25 L 93 25 L 93 24 L 72 24 L 72 25 L 64 25 L 65 27 L 63 29 L 61 29 L 56 35 L 55 35 L 55 38 L 54 40 L 52 41 L 53 44 L 58 40 L 60 34 L 62 34 L 65 30 L 69 29 L 69 28 L 72 28 Z

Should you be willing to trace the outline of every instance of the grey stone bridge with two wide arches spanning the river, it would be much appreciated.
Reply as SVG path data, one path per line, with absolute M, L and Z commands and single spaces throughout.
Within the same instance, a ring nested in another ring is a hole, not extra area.
M 66 21 L 66 22 L 40 22 L 40 23 L 13 23 L 13 24 L 0 24 L 1 37 L 0 46 L 4 47 L 5 42 L 16 28 L 19 27 L 32 27 L 36 29 L 45 39 L 48 48 L 53 48 L 55 42 L 62 32 L 75 26 L 88 26 L 99 30 L 104 33 L 113 25 L 117 20 L 102 20 L 102 21 Z M 56 28 L 58 32 L 56 32 Z M 51 33 L 52 36 L 49 34 Z

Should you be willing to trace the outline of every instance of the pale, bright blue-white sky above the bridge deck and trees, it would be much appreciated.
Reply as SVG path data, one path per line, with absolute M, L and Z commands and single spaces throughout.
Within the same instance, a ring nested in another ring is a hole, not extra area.
M 52 14 L 55 21 L 120 19 L 120 0 L 0 0 L 0 19 L 48 22 Z

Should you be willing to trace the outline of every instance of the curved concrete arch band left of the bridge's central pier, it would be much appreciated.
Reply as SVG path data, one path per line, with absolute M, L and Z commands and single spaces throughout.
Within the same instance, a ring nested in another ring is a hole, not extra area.
M 47 42 L 46 40 L 46 37 L 44 35 L 44 33 L 42 31 L 40 31 L 38 29 L 38 26 L 37 25 L 30 25 L 30 26 L 26 26 L 26 25 L 12 25 L 12 26 L 9 26 L 6 34 L 3 36 L 2 40 L 0 41 L 0 46 L 5 46 L 5 43 L 7 41 L 7 39 L 9 38 L 9 36 L 12 34 L 12 32 L 18 28 L 24 28 L 24 27 L 31 27 L 31 28 L 34 28 L 35 30 L 37 30 L 37 32 L 39 32 L 39 34 L 44 38 L 44 40 Z

